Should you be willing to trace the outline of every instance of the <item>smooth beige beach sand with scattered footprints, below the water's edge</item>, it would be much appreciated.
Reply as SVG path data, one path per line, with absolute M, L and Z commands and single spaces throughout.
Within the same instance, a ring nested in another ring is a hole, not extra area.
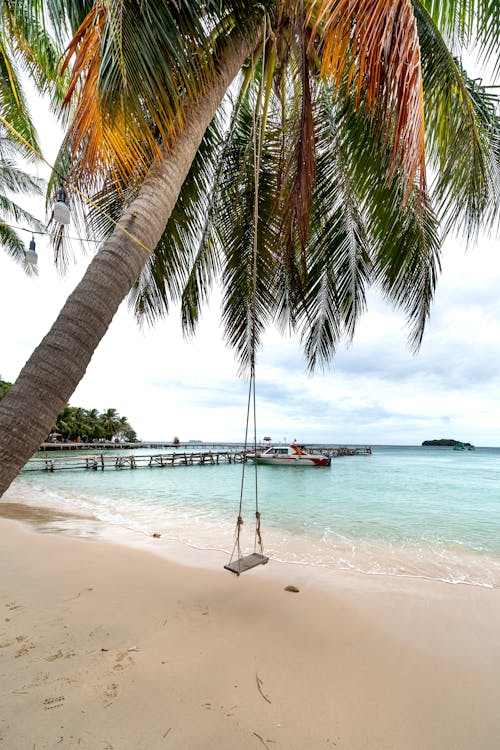
M 500 747 L 499 590 L 236 578 L 0 505 L 0 750 Z

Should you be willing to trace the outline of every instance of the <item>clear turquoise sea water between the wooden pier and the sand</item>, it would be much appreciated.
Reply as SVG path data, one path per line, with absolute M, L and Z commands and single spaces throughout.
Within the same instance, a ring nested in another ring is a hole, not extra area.
M 253 464 L 245 477 L 243 545 L 252 551 Z M 13 489 L 138 535 L 227 554 L 241 478 L 241 464 L 56 471 L 23 473 Z M 334 458 L 329 468 L 259 466 L 258 486 L 271 559 L 500 586 L 500 448 L 374 446 L 371 456 Z

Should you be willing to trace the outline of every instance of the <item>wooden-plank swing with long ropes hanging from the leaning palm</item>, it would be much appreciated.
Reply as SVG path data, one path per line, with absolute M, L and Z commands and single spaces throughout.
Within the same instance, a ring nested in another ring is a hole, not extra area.
M 259 84 L 259 92 L 257 97 L 257 106 L 253 111 L 253 166 L 254 166 L 254 208 L 253 208 L 253 279 L 252 279 L 252 308 L 251 308 L 251 330 L 250 330 L 250 381 L 248 384 L 248 402 L 247 402 L 247 417 L 245 425 L 245 456 L 248 446 L 248 430 L 250 424 L 250 414 L 253 416 L 253 451 L 254 455 L 257 453 L 257 410 L 255 405 L 255 349 L 256 349 L 256 317 L 257 317 L 257 250 L 258 250 L 258 223 L 259 223 L 259 173 L 260 173 L 260 155 L 262 149 L 262 137 L 264 127 L 264 117 L 261 118 L 261 127 L 257 132 L 257 123 L 255 110 L 261 107 L 262 102 L 262 89 L 264 79 L 264 67 L 265 67 L 265 46 L 266 46 L 267 28 L 266 28 L 266 16 L 264 15 L 264 33 L 263 33 L 263 53 L 262 53 L 262 74 Z M 255 63 L 253 63 L 255 64 Z M 243 488 L 245 484 L 245 468 L 246 461 L 242 462 L 241 471 L 241 486 L 240 486 L 240 503 L 238 509 L 238 518 L 236 520 L 235 529 L 235 540 L 233 551 L 229 563 L 224 565 L 226 570 L 231 573 L 235 573 L 239 576 L 246 570 L 251 570 L 257 567 L 257 565 L 265 565 L 269 558 L 264 555 L 264 545 L 262 543 L 261 533 L 261 515 L 259 510 L 259 485 L 258 485 L 258 470 L 257 462 L 254 462 L 254 478 L 255 478 L 255 535 L 254 535 L 254 548 L 253 553 L 244 556 L 241 550 L 241 530 L 243 526 Z

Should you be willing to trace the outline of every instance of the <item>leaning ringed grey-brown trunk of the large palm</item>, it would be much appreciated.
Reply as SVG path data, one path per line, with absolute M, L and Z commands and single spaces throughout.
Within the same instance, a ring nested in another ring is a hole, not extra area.
M 228 48 L 216 82 L 196 103 L 173 149 L 152 168 L 124 212 L 120 224 L 146 247 L 153 250 L 161 238 L 203 134 L 257 41 L 239 41 Z M 49 434 L 148 257 L 139 244 L 115 229 L 0 402 L 0 497 Z

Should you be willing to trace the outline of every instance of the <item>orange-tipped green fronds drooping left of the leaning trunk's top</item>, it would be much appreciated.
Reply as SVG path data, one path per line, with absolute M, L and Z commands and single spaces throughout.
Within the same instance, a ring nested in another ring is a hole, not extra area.
M 235 3 L 240 15 L 243 4 Z M 247 8 L 252 19 L 262 9 Z M 238 14 L 227 3 L 99 0 L 68 46 L 67 146 L 87 179 L 104 171 L 140 181 L 182 128 L 187 101 L 217 75 L 217 53 Z

